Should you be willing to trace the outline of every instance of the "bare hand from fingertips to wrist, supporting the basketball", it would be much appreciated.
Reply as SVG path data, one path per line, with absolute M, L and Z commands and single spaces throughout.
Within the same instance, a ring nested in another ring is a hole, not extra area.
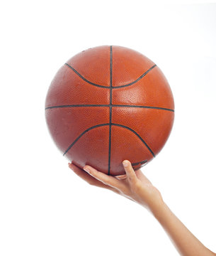
M 124 166 L 124 164 L 126 164 L 126 166 Z M 83 170 L 74 164 L 69 164 L 69 168 L 90 185 L 107 188 L 125 196 L 155 214 L 157 208 L 163 203 L 161 193 L 152 185 L 148 178 L 142 174 L 140 169 L 134 171 L 130 161 L 123 161 L 123 166 L 126 174 L 114 177 L 103 174 L 101 171 L 97 171 L 91 166 L 86 165 Z

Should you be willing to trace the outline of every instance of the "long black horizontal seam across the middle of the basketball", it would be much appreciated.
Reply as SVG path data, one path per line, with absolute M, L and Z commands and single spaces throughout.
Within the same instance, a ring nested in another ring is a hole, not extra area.
M 112 87 L 113 88 L 113 87 Z M 143 107 L 143 108 L 149 108 L 153 110 L 167 110 L 174 112 L 174 110 L 171 110 L 166 107 L 151 107 L 151 106 L 136 106 L 136 105 L 113 105 L 113 104 L 104 104 L 104 105 L 96 105 L 96 104 L 85 104 L 85 105 L 59 105 L 59 106 L 52 106 L 52 107 L 46 107 L 45 110 L 52 109 L 52 108 L 59 108 L 59 107 Z

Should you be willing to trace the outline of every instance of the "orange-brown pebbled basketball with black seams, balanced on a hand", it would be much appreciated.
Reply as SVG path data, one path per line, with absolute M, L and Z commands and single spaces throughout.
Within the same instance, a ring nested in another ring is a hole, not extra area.
M 162 149 L 174 123 L 174 98 L 152 60 L 121 46 L 74 55 L 52 80 L 45 101 L 55 144 L 81 169 L 111 176 L 135 170 Z

